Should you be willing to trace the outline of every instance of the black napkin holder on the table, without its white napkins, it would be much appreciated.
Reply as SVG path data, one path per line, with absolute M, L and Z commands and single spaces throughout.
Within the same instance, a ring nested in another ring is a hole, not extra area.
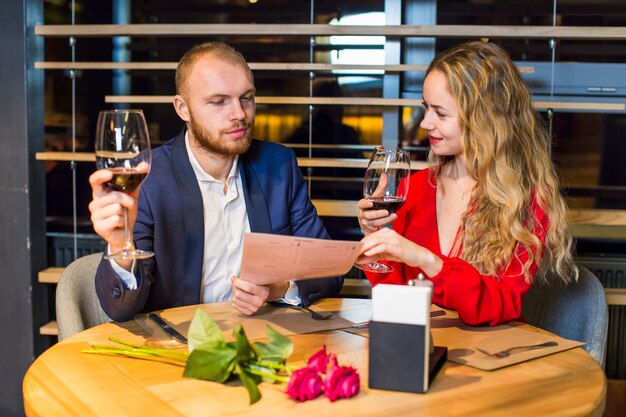
M 371 321 L 369 387 L 425 393 L 446 359 L 448 348 L 430 350 L 430 329 L 416 324 Z

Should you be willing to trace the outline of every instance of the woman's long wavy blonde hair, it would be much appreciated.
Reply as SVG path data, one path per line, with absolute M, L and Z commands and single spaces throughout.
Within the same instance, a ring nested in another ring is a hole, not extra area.
M 529 254 L 523 265 L 527 281 L 533 279 L 533 262 L 542 277 L 550 270 L 565 282 L 577 280 L 550 135 L 508 53 L 493 43 L 468 42 L 438 55 L 426 75 L 433 71 L 445 76 L 456 100 L 466 170 L 477 184 L 461 219 L 457 255 L 495 276 L 521 245 Z M 436 178 L 451 158 L 431 152 Z M 533 234 L 541 227 L 533 198 L 548 218 L 544 245 Z

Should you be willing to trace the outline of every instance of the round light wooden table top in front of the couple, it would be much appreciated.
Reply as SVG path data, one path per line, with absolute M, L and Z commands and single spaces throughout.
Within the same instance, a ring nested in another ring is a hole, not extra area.
M 197 307 L 167 310 L 163 317 L 180 323 Z M 251 323 L 229 303 L 200 307 L 231 316 L 244 328 Z M 352 299 L 316 305 L 354 322 L 369 319 L 369 307 L 369 300 Z M 86 342 L 109 336 L 143 343 L 146 331 L 136 322 L 107 323 L 48 349 L 24 378 L 27 416 L 601 416 L 605 406 L 604 372 L 580 348 L 491 372 L 446 362 L 428 393 L 411 394 L 367 388 L 366 337 L 342 330 L 297 334 L 290 336 L 290 364 L 303 364 L 325 344 L 339 353 L 340 364 L 358 369 L 361 392 L 335 403 L 325 397 L 298 403 L 284 393 L 284 384 L 261 384 L 263 398 L 249 406 L 243 387 L 183 378 L 182 367 L 79 352 Z

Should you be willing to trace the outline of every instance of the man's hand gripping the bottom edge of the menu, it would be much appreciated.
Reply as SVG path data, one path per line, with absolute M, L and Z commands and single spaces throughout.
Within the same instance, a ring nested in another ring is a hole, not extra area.
M 239 277 L 232 277 L 233 307 L 242 314 L 251 316 L 266 301 L 282 298 L 289 289 L 289 282 L 278 282 L 269 285 L 258 285 Z

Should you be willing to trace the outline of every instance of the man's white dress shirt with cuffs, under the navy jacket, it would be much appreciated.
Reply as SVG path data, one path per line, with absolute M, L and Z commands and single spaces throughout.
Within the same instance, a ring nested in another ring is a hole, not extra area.
M 202 264 L 201 300 L 203 303 L 232 299 L 230 278 L 239 276 L 243 252 L 243 236 L 250 232 L 250 223 L 239 176 L 239 157 L 236 156 L 226 184 L 207 174 L 189 146 L 185 134 L 185 146 L 191 167 L 198 180 L 204 206 L 204 259 Z M 135 264 L 126 271 L 111 260 L 111 265 L 129 290 L 137 289 Z M 281 301 L 297 305 L 300 294 L 297 285 L 289 282 L 289 289 Z

